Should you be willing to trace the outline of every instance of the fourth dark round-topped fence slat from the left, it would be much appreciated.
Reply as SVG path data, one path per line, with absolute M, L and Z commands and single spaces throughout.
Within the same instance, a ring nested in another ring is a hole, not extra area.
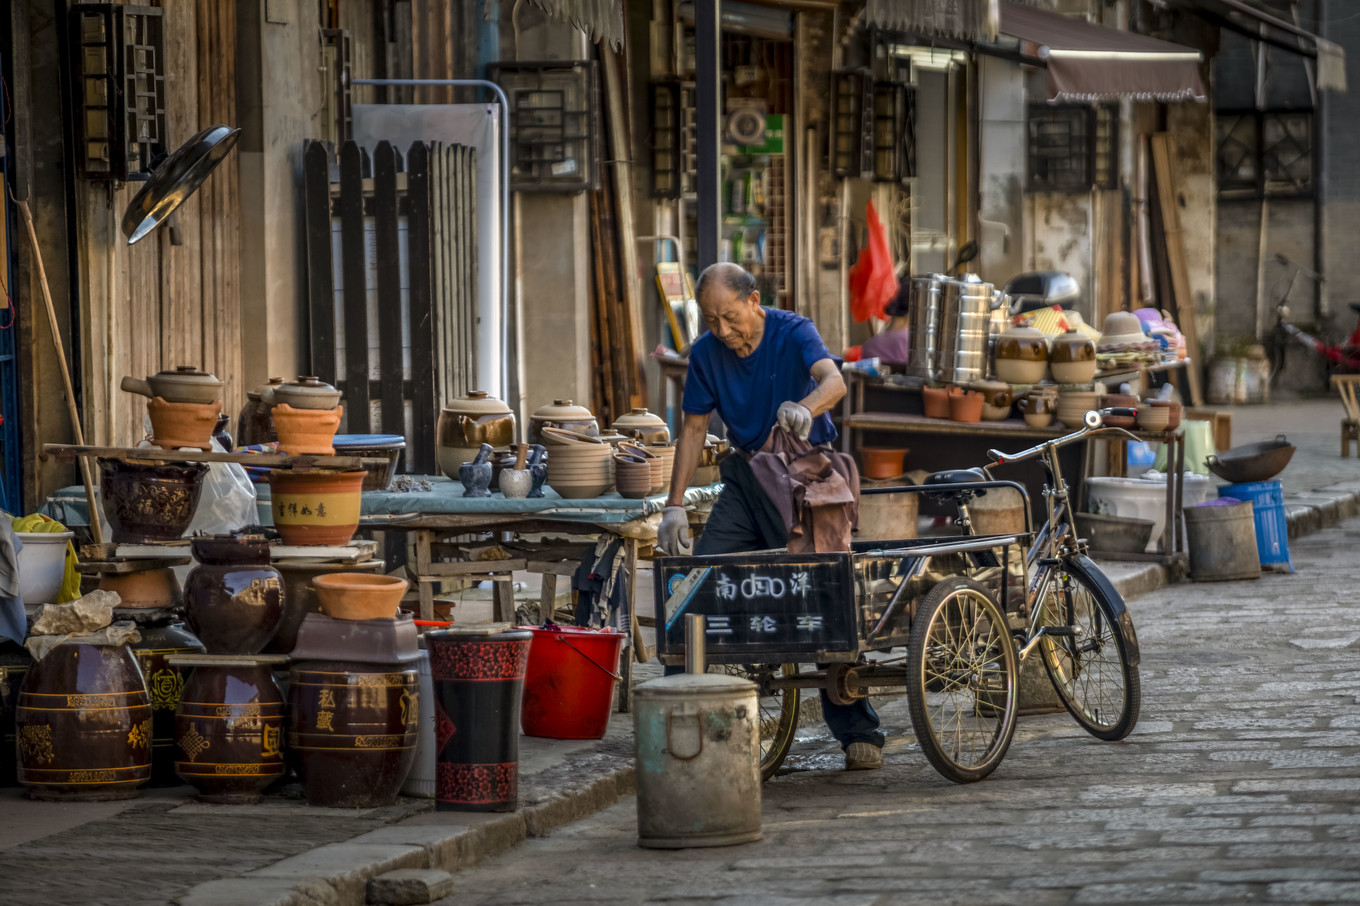
M 434 475 L 435 422 L 441 401 L 434 389 L 434 310 L 430 299 L 430 147 L 416 141 L 407 152 L 407 305 L 411 312 L 411 411 L 405 469 Z

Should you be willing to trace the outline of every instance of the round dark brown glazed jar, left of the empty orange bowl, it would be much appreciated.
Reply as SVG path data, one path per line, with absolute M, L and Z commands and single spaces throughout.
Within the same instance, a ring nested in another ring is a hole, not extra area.
M 189 541 L 199 566 L 185 581 L 185 615 L 209 654 L 258 654 L 283 620 L 283 575 L 261 535 Z

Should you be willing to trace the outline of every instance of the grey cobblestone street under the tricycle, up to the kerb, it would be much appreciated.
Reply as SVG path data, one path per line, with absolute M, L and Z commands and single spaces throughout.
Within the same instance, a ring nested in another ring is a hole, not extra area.
M 800 741 L 764 786 L 764 841 L 638 849 L 635 801 L 457 876 L 509 903 L 1360 902 L 1360 520 L 1293 541 L 1293 575 L 1136 599 L 1142 717 L 1122 743 L 1021 718 L 956 786 L 884 699 L 887 765 Z

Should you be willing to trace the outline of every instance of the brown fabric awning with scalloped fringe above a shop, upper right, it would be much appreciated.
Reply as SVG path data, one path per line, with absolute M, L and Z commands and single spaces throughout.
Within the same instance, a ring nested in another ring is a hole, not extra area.
M 1049 67 L 1050 101 L 1204 101 L 1194 48 L 1009 0 L 1001 3 L 1001 34 L 1036 48 L 1032 56 Z

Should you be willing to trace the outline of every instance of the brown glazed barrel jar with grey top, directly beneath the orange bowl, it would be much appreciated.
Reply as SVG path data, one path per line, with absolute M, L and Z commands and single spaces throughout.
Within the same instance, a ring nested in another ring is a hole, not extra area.
M 411 620 L 307 618 L 288 679 L 288 750 L 309 804 L 375 808 L 401 792 L 420 716 Z

